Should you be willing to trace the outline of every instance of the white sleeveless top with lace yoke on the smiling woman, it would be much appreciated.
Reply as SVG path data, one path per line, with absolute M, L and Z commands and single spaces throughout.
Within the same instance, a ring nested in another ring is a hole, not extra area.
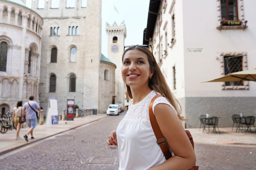
M 138 104 L 131 101 L 124 119 L 117 126 L 119 170 L 146 170 L 166 161 L 149 119 L 149 103 L 155 95 L 156 92 L 151 91 Z M 159 103 L 173 108 L 166 98 L 158 97 L 153 103 L 153 110 Z

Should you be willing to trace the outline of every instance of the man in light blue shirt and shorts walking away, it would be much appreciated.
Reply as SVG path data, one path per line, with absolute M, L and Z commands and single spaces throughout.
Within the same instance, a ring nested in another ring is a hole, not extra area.
M 26 141 L 28 140 L 28 135 L 31 134 L 31 139 L 34 139 L 33 130 L 36 127 L 37 117 L 36 117 L 36 110 L 40 110 L 39 104 L 34 101 L 34 96 L 29 97 L 29 101 L 26 102 L 22 109 L 22 120 L 24 119 L 25 111 L 26 111 L 26 119 L 27 125 L 29 126 L 29 130 L 27 134 L 24 135 Z

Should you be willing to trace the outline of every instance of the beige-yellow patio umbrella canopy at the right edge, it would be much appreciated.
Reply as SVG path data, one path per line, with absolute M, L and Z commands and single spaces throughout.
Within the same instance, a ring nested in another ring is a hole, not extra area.
M 240 82 L 240 81 L 254 81 L 256 82 L 256 68 L 229 73 L 223 77 L 212 79 L 206 82 Z

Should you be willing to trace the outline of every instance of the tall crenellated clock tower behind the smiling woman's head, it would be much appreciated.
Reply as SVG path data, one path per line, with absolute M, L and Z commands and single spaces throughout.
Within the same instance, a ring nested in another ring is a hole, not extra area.
M 108 35 L 108 59 L 117 66 L 115 69 L 115 104 L 121 104 L 124 108 L 127 100 L 124 81 L 121 75 L 124 39 L 126 38 L 124 21 L 119 26 L 116 22 L 112 26 L 106 22 L 106 33 Z

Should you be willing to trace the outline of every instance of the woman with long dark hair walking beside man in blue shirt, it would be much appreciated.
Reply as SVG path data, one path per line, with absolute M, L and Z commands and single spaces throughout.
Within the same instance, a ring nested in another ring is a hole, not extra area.
M 20 139 L 19 133 L 20 133 L 20 128 L 21 128 L 21 124 L 20 124 L 21 113 L 22 113 L 22 101 L 19 101 L 17 103 L 17 106 L 13 108 L 13 116 L 11 119 L 11 123 L 14 120 L 14 123 L 17 126 L 16 140 Z

